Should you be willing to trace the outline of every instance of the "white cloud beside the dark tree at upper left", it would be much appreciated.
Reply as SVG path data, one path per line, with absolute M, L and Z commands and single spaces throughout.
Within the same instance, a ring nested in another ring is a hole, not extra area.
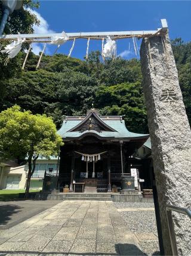
M 47 20 L 45 20 L 44 17 L 42 17 L 41 14 L 38 13 L 38 11 L 34 11 L 31 9 L 27 9 L 27 10 L 30 11 L 30 13 L 35 14 L 37 19 L 40 22 L 39 25 L 33 25 L 34 34 L 55 33 L 53 30 L 49 29 L 49 24 L 48 24 Z M 44 44 L 33 43 L 32 44 L 32 52 L 35 53 L 36 55 L 38 55 L 39 52 L 42 52 L 43 47 L 44 47 Z M 45 52 L 49 53 L 48 47 L 46 47 Z

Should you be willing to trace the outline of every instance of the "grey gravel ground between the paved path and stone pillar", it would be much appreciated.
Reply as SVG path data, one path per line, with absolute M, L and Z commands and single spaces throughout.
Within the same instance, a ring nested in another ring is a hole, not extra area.
M 153 208 L 153 203 L 114 203 L 118 209 L 122 208 Z M 133 231 L 138 237 L 148 237 L 140 240 L 140 247 L 146 255 L 160 255 L 157 239 L 156 218 L 154 210 L 131 210 L 119 212 L 127 223 L 129 230 Z M 152 240 L 150 237 L 156 237 Z

